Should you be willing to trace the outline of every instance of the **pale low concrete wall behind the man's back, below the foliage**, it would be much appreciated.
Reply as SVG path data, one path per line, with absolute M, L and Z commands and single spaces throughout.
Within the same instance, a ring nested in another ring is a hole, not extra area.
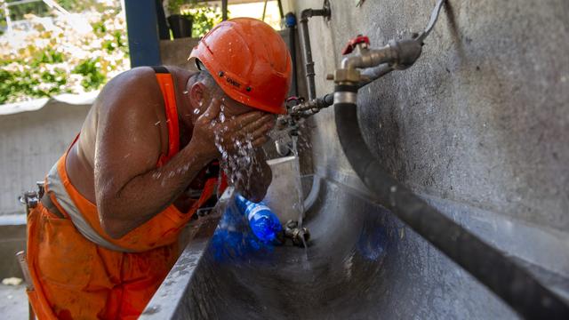
M 81 129 L 89 108 L 49 102 L 36 111 L 0 116 L 0 215 L 25 212 L 17 197 L 44 180 Z

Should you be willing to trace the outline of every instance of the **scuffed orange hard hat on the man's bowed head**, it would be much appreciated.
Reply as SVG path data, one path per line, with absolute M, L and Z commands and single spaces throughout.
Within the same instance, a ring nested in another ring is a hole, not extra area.
M 270 113 L 284 114 L 293 63 L 283 38 L 252 18 L 221 22 L 189 55 L 212 74 L 231 99 Z

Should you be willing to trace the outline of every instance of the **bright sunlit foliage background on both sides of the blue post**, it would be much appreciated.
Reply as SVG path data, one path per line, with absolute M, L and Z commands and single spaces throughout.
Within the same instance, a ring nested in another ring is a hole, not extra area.
M 191 16 L 193 37 L 221 21 L 220 1 L 165 0 L 163 5 L 166 16 Z M 281 29 L 277 1 L 229 1 L 228 18 L 236 17 Z M 121 1 L 0 0 L 0 105 L 96 92 L 128 68 Z

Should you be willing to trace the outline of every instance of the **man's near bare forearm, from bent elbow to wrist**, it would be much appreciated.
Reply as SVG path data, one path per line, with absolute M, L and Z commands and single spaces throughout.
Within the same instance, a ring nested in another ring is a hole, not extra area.
M 142 173 L 124 184 L 116 196 L 99 204 L 100 218 L 120 237 L 152 219 L 180 196 L 212 159 L 188 145 L 163 166 Z

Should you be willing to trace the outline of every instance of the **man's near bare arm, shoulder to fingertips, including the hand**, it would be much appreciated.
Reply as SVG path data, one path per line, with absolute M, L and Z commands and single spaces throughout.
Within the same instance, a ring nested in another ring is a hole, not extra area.
M 135 84 L 138 81 L 133 80 Z M 148 109 L 144 104 L 156 103 L 156 97 L 146 93 L 151 92 L 148 90 L 150 84 L 146 84 L 147 90 L 128 92 L 133 85 L 123 86 L 119 89 L 121 98 L 112 100 L 118 105 L 130 103 L 132 108 L 114 108 L 108 115 L 101 116 L 100 121 L 106 123 L 100 123 L 97 133 L 97 207 L 101 226 L 115 238 L 124 236 L 172 204 L 197 172 L 218 155 L 214 138 L 221 125 L 212 125 L 212 120 L 219 114 L 220 103 L 213 100 L 210 108 L 196 121 L 188 146 L 167 164 L 156 168 L 162 149 L 160 133 L 153 123 L 156 117 L 143 112 Z M 156 90 L 159 90 L 157 84 Z M 244 126 L 251 130 L 256 128 L 255 125 L 263 125 L 260 118 L 259 113 L 239 116 L 223 124 L 224 134 L 237 135 Z

